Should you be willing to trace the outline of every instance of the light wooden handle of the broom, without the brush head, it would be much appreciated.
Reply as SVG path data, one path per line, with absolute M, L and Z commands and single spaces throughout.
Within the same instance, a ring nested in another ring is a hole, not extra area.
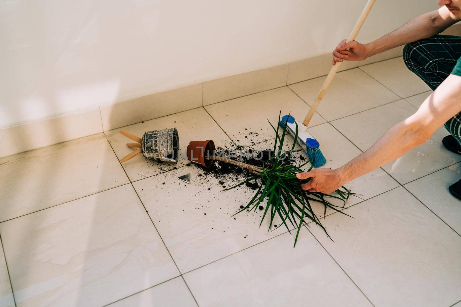
M 360 14 L 359 19 L 355 23 L 354 29 L 352 29 L 352 32 L 350 33 L 350 35 L 349 35 L 349 37 L 348 37 L 348 39 L 346 41 L 347 43 L 349 41 L 354 41 L 355 40 L 355 37 L 359 33 L 360 28 L 362 27 L 363 23 L 365 22 L 365 19 L 368 16 L 368 13 L 371 11 L 374 3 L 375 3 L 375 0 L 368 0 L 368 2 L 366 2 L 366 5 L 365 5 L 362 13 Z M 304 118 L 304 121 L 302 122 L 302 124 L 304 126 L 307 127 L 307 125 L 311 121 L 312 116 L 314 115 L 315 111 L 317 110 L 317 107 L 319 106 L 320 101 L 322 101 L 323 95 L 325 95 L 325 92 L 326 92 L 327 88 L 330 86 L 330 83 L 333 80 L 334 76 L 336 75 L 341 63 L 342 62 L 336 62 L 336 64 L 333 65 L 333 67 L 331 67 L 330 73 L 326 77 L 325 82 L 323 82 L 322 88 L 320 88 L 320 92 L 319 92 L 319 95 L 317 96 L 317 99 L 315 99 L 314 104 L 312 105 L 311 109 L 309 110 L 309 113 L 307 113 L 306 118 Z

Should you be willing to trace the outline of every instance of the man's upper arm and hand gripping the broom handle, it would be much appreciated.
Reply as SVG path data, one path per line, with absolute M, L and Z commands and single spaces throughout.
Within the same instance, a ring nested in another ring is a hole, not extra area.
M 361 44 L 357 41 L 346 44 L 345 40 L 341 41 L 333 51 L 332 64 L 343 62 L 343 60 L 364 60 L 392 48 L 434 36 L 456 22 L 450 17 L 447 7 L 442 6 L 438 10 L 413 18 L 400 28 L 368 44 Z M 350 48 L 349 51 L 346 50 L 348 48 Z

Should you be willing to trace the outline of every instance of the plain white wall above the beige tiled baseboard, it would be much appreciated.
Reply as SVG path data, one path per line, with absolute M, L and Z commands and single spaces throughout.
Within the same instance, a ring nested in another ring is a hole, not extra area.
M 0 1 L 0 127 L 330 52 L 365 3 Z M 357 40 L 436 8 L 377 0 Z

